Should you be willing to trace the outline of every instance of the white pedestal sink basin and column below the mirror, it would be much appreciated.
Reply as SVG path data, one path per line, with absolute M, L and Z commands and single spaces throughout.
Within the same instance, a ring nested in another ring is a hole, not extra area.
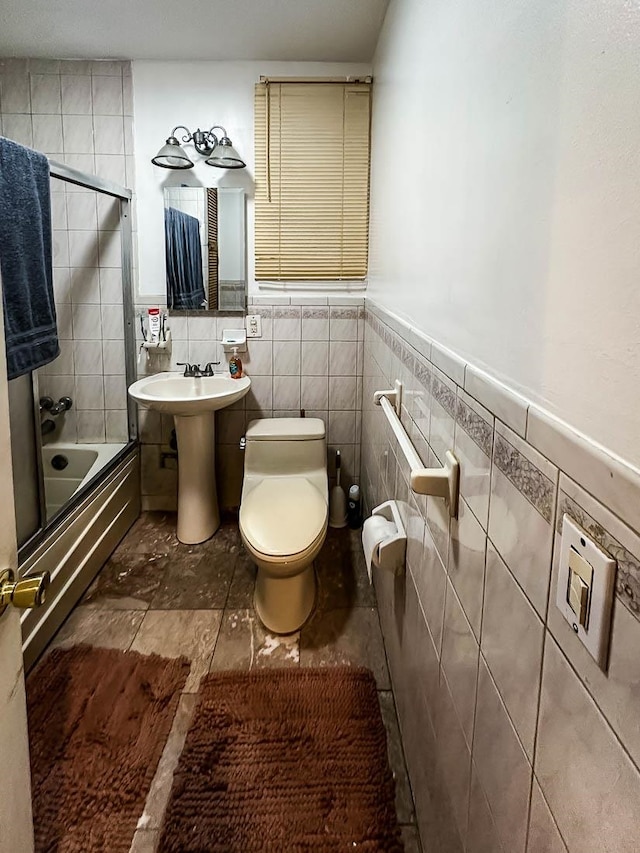
M 251 387 L 248 376 L 182 376 L 156 373 L 129 386 L 146 409 L 173 415 L 178 439 L 178 539 L 204 542 L 220 526 L 215 476 L 215 415 L 240 400 Z

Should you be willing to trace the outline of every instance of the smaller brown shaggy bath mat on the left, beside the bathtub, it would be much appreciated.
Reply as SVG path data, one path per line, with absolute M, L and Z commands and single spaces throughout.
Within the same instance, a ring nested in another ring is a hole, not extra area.
M 36 851 L 129 850 L 188 674 L 184 658 L 76 646 L 29 675 Z

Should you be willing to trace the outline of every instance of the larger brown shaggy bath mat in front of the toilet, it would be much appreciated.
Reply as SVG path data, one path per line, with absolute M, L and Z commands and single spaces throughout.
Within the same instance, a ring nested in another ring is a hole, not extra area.
M 200 693 L 161 853 L 402 851 L 371 672 L 221 672 Z

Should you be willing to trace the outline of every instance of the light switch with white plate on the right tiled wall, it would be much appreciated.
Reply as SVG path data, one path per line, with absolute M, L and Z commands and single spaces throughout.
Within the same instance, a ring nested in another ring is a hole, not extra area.
M 565 514 L 556 606 L 602 669 L 609 650 L 615 573 L 611 555 Z

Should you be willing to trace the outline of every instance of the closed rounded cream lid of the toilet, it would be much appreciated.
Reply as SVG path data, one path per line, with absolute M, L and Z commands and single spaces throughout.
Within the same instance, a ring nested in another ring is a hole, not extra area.
M 240 505 L 240 526 L 256 551 L 290 557 L 304 551 L 327 523 L 327 502 L 304 477 L 269 477 Z

